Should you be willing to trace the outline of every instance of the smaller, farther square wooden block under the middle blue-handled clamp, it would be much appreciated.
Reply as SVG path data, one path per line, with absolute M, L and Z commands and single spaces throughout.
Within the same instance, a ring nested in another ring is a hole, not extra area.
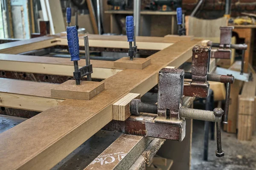
M 150 65 L 150 58 L 134 58 L 122 57 L 114 62 L 116 68 L 143 69 Z

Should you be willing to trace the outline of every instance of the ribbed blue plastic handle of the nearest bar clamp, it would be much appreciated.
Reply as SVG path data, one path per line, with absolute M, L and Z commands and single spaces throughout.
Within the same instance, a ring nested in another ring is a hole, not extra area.
M 79 59 L 79 39 L 77 35 L 76 26 L 67 27 L 67 45 L 69 48 L 71 61 L 78 61 Z

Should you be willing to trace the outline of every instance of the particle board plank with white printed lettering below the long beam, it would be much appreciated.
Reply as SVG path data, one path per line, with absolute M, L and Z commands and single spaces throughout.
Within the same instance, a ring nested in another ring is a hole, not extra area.
M 153 139 L 123 134 L 84 170 L 129 169 Z

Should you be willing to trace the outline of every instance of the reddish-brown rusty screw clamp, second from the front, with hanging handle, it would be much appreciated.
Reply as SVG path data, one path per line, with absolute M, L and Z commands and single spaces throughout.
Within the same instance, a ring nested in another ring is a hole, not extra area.
M 217 75 L 208 74 L 211 47 L 195 46 L 192 49 L 191 72 L 185 72 L 185 79 L 192 79 L 189 84 L 184 85 L 184 95 L 192 97 L 207 98 L 209 92 L 208 81 L 227 83 L 224 122 L 227 124 L 228 108 L 230 101 L 230 85 L 234 82 L 232 74 Z

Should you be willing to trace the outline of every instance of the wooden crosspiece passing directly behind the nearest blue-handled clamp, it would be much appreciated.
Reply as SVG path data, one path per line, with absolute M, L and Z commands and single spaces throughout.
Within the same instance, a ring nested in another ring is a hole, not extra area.
M 96 79 L 106 79 L 122 71 L 113 68 L 112 61 L 91 60 L 90 62 L 93 65 L 92 77 Z M 85 59 L 81 59 L 79 66 L 84 65 Z M 74 66 L 69 58 L 0 54 L 0 70 L 73 77 Z

